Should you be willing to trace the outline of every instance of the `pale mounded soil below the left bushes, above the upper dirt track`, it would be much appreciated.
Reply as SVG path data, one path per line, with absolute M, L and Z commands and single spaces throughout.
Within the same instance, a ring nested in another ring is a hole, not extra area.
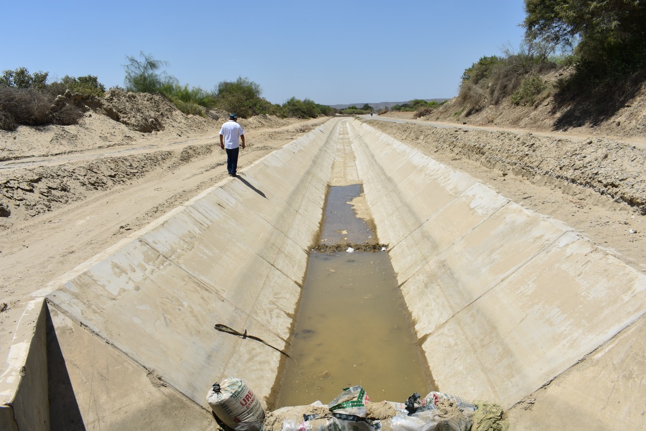
M 0 130 L 0 162 L 135 144 L 160 145 L 165 140 L 207 133 L 216 136 L 229 115 L 214 109 L 206 117 L 187 116 L 161 94 L 119 89 L 110 89 L 104 98 L 86 98 L 76 104 L 86 111 L 78 124 Z M 238 120 L 245 129 L 276 129 L 293 122 L 293 119 L 268 115 Z

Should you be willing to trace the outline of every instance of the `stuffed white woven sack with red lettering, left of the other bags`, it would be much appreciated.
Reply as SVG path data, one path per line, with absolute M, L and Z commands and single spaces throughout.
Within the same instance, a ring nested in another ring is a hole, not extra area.
M 213 384 L 206 401 L 225 425 L 236 431 L 258 431 L 265 420 L 265 411 L 256 395 L 241 380 L 228 377 Z

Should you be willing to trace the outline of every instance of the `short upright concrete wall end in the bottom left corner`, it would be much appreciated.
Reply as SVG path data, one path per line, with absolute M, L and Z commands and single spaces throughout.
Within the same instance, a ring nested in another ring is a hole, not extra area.
M 45 300 L 27 303 L 0 375 L 3 430 L 49 430 Z

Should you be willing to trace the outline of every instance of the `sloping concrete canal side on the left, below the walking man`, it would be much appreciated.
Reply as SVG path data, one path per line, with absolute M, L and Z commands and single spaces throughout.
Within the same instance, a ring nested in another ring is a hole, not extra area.
M 280 353 L 213 326 L 246 329 L 275 348 L 285 347 L 309 247 L 318 235 L 338 125 L 338 120 L 324 123 L 256 161 L 238 178 L 211 187 L 34 293 L 34 303 L 41 308 L 30 319 L 36 319 L 42 331 L 35 333 L 37 337 L 25 336 L 24 342 L 32 346 L 21 354 L 25 360 L 41 362 L 34 369 L 45 375 L 34 376 L 34 384 L 41 390 L 37 395 L 45 398 L 37 399 L 31 381 L 24 377 L 5 381 L 3 388 L 7 394 L 32 391 L 28 397 L 34 403 L 25 406 L 25 417 L 45 423 L 49 416 L 39 411 L 49 406 L 43 297 L 54 307 L 52 333 L 65 344 L 59 346 L 61 352 L 74 351 L 79 340 L 74 331 L 88 333 L 88 342 L 98 346 L 92 348 L 95 353 L 98 348 L 104 356 L 116 355 L 110 361 L 117 365 L 132 362 L 135 374 L 127 388 L 132 394 L 138 391 L 134 381 L 141 380 L 136 373 L 143 373 L 156 386 L 171 386 L 207 408 L 205 395 L 211 383 L 238 375 L 265 399 L 275 383 Z M 74 355 L 61 361 L 94 366 L 83 352 Z M 68 382 L 72 393 L 88 397 L 78 400 L 81 410 L 91 401 L 91 407 L 100 406 L 101 412 L 121 411 L 125 399 L 110 393 L 128 384 L 121 381 L 123 375 L 112 380 L 100 375 L 101 385 L 90 385 L 88 391 L 83 388 L 88 383 L 85 372 L 93 370 L 79 371 L 65 377 L 76 379 Z M 45 429 L 21 425 L 15 404 L 14 412 L 8 412 L 8 401 L 0 409 L 3 427 Z M 88 419 L 91 413 L 78 414 L 85 426 L 105 423 L 98 415 Z M 136 417 L 149 423 L 141 419 L 141 412 Z

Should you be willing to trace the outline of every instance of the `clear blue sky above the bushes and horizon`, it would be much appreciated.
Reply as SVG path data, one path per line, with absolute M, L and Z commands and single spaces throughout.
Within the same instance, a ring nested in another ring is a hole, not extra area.
M 211 90 L 238 76 L 263 96 L 317 103 L 450 98 L 481 56 L 517 48 L 523 0 L 6 1 L 0 70 L 96 75 L 123 86 L 125 56 Z

